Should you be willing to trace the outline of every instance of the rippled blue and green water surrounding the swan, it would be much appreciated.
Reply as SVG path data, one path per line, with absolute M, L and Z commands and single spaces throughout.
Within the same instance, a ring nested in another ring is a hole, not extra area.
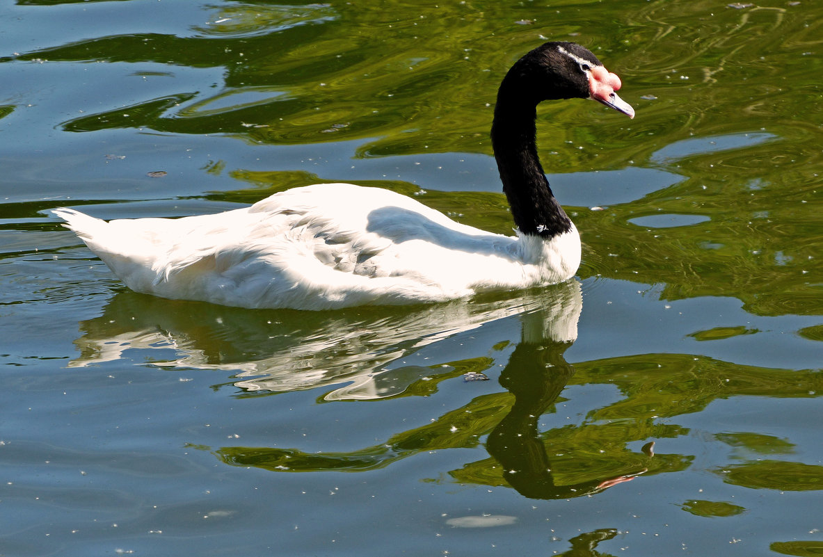
M 821 551 L 815 2 L 2 12 L 0 555 Z M 584 239 L 569 285 L 153 299 L 46 212 L 351 181 L 508 232 L 491 109 L 543 36 L 591 46 L 637 109 L 540 110 Z

